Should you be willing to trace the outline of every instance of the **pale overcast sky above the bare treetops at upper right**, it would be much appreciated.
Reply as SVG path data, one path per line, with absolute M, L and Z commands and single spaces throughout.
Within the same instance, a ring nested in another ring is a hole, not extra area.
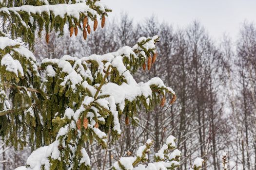
M 159 21 L 183 28 L 197 19 L 219 39 L 223 33 L 235 38 L 244 20 L 256 23 L 256 0 L 101 0 L 113 9 L 110 17 L 127 12 L 135 22 L 152 14 Z

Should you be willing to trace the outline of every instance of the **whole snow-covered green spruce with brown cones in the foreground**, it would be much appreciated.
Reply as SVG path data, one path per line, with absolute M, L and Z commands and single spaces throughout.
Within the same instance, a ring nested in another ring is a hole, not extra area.
M 17 150 L 34 150 L 20 170 L 89 170 L 85 142 L 97 141 L 104 149 L 108 132 L 113 140 L 120 136 L 120 121 L 138 123 L 142 107 L 163 106 L 168 94 L 175 102 L 175 92 L 161 79 L 138 84 L 133 78 L 157 60 L 158 36 L 103 55 L 37 62 L 36 37 L 48 43 L 51 33 L 61 36 L 67 26 L 70 36 L 80 31 L 86 39 L 98 19 L 104 27 L 109 12 L 99 0 L 0 0 L 0 137 Z M 156 165 L 178 167 L 174 141 L 170 136 L 156 153 Z M 143 167 L 151 145 L 148 140 L 136 157 L 121 158 L 113 169 Z

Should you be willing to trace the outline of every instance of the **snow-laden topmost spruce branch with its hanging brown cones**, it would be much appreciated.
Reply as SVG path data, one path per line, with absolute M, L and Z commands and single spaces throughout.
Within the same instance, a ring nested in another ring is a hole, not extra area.
M 2 7 L 0 15 L 5 17 L 9 26 L 5 29 L 12 37 L 22 38 L 31 49 L 34 47 L 35 36 L 41 36 L 42 31 L 46 32 L 46 42 L 49 42 L 51 31 L 64 34 L 64 25 L 69 24 L 70 35 L 74 30 L 77 35 L 78 29 L 83 31 L 84 38 L 87 32 L 90 34 L 90 20 L 94 23 L 94 31 L 98 27 L 97 17 L 105 23 L 105 16 L 111 12 L 107 6 L 102 5 L 98 0 L 87 0 L 71 4 L 45 4 L 40 6 L 22 5 L 19 7 Z M 89 20 L 90 19 L 90 20 Z M 38 27 L 37 27 L 38 26 Z

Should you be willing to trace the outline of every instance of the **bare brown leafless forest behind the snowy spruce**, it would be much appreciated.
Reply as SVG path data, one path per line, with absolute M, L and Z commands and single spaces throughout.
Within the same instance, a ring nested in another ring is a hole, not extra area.
M 204 170 L 222 170 L 227 153 L 228 170 L 256 170 L 256 26 L 245 22 L 236 39 L 224 35 L 213 40 L 203 25 L 194 21 L 184 29 L 159 23 L 156 17 L 134 23 L 124 14 L 119 21 L 89 35 L 58 38 L 50 34 L 49 44 L 38 39 L 34 54 L 42 58 L 60 58 L 103 54 L 122 46 L 132 46 L 141 36 L 160 36 L 157 62 L 150 71 L 139 70 L 137 82 L 160 77 L 177 94 L 173 105 L 156 107 L 138 114 L 138 126 L 125 125 L 120 139 L 102 150 L 87 144 L 92 169 L 111 167 L 120 156 L 133 152 L 148 138 L 158 151 L 164 139 L 177 137 L 182 152 L 180 170 L 188 170 L 199 156 Z M 124 120 L 124 119 L 123 119 Z M 13 170 L 24 165 L 31 153 L 16 152 L 0 143 L 0 169 Z M 150 159 L 150 158 L 149 158 Z M 97 161 L 95 161 L 97 160 Z

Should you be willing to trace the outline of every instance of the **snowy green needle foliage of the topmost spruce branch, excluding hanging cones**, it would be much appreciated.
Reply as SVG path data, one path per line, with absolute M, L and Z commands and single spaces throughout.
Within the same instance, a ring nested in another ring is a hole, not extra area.
M 84 30 L 84 20 L 96 22 L 111 12 L 98 0 L 1 0 L 0 16 L 4 33 L 12 39 L 21 38 L 22 42 L 33 49 L 35 37 L 50 32 L 64 34 L 65 24 L 69 29 Z M 89 24 L 89 23 L 88 23 Z M 86 23 L 87 25 L 87 23 Z

